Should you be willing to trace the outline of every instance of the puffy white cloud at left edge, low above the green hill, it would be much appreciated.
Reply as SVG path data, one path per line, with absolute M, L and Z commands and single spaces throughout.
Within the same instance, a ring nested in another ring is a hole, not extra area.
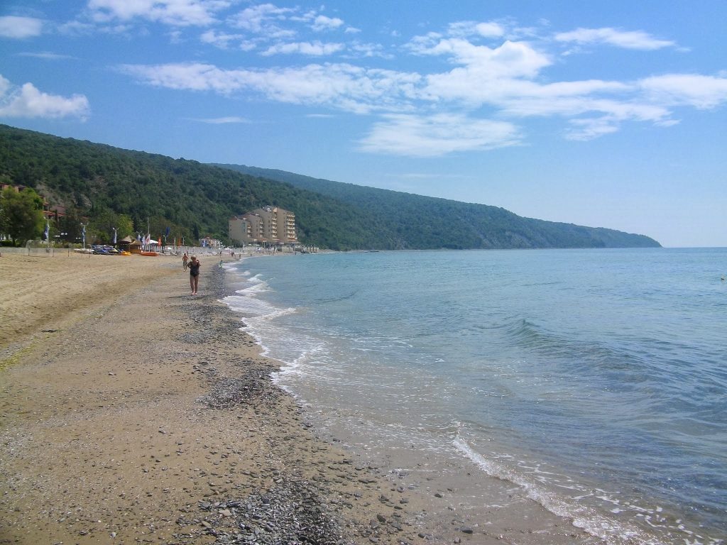
M 41 92 L 31 83 L 17 89 L 0 76 L 0 117 L 85 119 L 88 115 L 89 102 L 82 94 L 60 97 Z

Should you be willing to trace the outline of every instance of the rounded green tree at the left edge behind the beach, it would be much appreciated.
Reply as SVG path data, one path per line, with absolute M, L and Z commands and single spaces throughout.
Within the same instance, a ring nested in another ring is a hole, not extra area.
M 43 199 L 30 187 L 17 192 L 6 187 L 0 194 L 0 232 L 12 238 L 12 243 L 25 243 L 36 238 L 45 226 Z

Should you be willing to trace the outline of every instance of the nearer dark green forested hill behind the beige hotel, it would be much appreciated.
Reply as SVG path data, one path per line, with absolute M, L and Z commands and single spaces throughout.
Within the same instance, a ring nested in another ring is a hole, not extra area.
M 226 240 L 231 216 L 268 204 L 294 211 L 305 243 L 368 248 L 379 236 L 353 206 L 282 182 L 4 125 L 0 182 L 32 187 L 73 217 L 126 214 L 140 233 L 149 222 L 153 238 L 170 227 L 175 238 Z

